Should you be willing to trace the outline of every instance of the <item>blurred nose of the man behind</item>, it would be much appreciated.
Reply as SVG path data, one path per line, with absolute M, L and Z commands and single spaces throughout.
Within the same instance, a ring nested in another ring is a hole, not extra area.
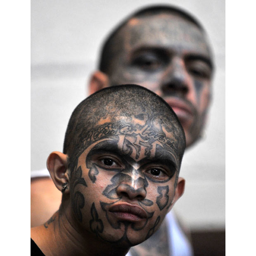
M 185 97 L 192 90 L 192 79 L 187 72 L 185 62 L 181 57 L 173 57 L 166 69 L 161 83 L 163 95 L 178 95 Z

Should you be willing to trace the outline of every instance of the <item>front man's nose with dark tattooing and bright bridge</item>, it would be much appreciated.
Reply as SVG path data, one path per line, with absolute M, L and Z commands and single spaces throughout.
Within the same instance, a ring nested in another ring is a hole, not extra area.
M 147 180 L 145 178 L 142 178 L 139 174 L 128 175 L 116 188 L 116 193 L 129 199 L 143 200 L 147 195 L 146 187 Z

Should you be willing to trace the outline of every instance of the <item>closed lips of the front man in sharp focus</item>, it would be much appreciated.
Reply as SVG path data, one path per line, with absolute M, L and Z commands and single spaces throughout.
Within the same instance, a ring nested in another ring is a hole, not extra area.
M 146 211 L 140 206 L 133 204 L 114 204 L 109 208 L 109 211 L 119 218 L 119 220 L 135 221 L 147 218 Z

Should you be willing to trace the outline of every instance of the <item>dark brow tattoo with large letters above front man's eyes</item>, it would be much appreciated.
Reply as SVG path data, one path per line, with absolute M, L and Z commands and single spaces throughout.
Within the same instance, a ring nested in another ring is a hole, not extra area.
M 114 154 L 122 159 L 123 164 L 126 162 L 128 166 L 133 166 L 135 170 L 140 170 L 141 166 L 149 162 L 161 163 L 168 167 L 172 166 L 175 170 L 179 168 L 178 157 L 171 149 L 164 149 L 163 144 L 157 140 L 154 142 L 145 141 L 140 134 L 105 137 L 92 143 L 78 157 L 78 166 L 83 165 L 85 158 L 87 163 L 91 157 L 104 154 Z M 127 164 L 125 165 L 126 168 L 128 168 Z M 87 166 L 89 166 L 88 163 Z

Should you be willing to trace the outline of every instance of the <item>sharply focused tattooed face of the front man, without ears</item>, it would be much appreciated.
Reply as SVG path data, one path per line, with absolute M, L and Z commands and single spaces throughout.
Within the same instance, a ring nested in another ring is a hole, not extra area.
M 71 173 L 72 209 L 82 230 L 126 247 L 150 237 L 178 199 L 175 128 L 169 133 L 147 121 L 100 121 Z

